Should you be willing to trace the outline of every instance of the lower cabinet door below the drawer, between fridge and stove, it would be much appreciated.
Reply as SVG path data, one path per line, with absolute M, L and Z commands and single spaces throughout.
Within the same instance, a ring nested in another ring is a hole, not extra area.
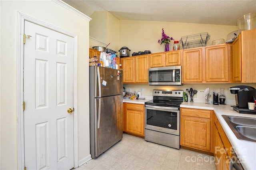
M 144 136 L 144 112 L 126 110 L 126 131 Z

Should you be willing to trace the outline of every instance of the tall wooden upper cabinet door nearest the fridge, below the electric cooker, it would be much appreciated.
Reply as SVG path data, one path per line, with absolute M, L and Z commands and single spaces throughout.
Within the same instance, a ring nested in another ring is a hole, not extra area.
M 123 83 L 134 83 L 134 57 L 121 58 Z

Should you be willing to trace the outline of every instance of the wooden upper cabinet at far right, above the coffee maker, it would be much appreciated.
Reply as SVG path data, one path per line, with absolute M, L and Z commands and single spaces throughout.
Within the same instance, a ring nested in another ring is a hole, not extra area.
M 256 83 L 256 29 L 242 31 L 233 42 L 233 81 Z M 238 71 L 241 70 L 241 73 Z

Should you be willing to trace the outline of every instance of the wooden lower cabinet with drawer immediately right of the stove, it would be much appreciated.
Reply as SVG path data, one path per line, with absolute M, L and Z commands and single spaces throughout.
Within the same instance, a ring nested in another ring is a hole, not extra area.
M 211 152 L 212 110 L 180 108 L 180 145 Z

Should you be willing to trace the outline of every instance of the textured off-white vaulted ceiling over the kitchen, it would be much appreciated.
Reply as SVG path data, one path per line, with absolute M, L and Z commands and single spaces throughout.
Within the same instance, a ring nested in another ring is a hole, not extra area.
M 120 20 L 187 22 L 236 26 L 256 12 L 256 0 L 64 0 L 90 16 L 108 11 Z

